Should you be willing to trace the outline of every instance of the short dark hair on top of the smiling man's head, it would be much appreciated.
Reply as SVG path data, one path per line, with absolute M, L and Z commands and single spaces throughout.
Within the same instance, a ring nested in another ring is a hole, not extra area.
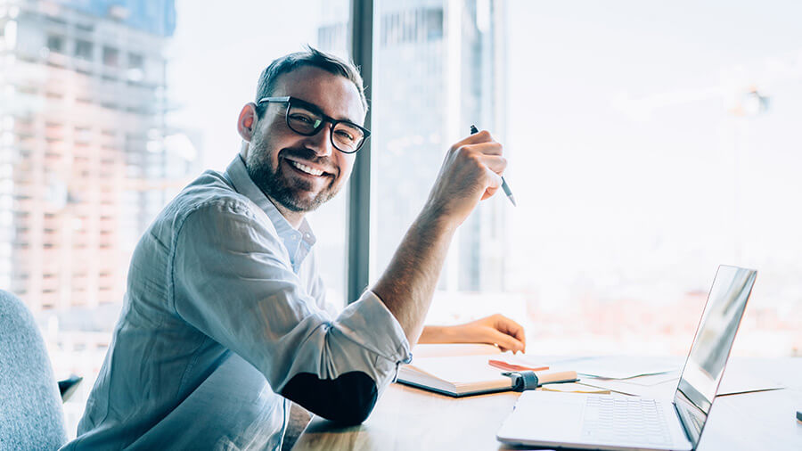
M 344 60 L 339 56 L 331 53 L 318 50 L 311 45 L 307 45 L 306 49 L 301 52 L 290 53 L 275 59 L 262 70 L 259 75 L 259 83 L 257 86 L 257 96 L 254 102 L 264 97 L 273 95 L 275 82 L 278 78 L 285 73 L 299 69 L 304 66 L 313 66 L 322 70 L 331 72 L 334 75 L 340 75 L 348 78 L 356 90 L 359 92 L 359 98 L 362 101 L 364 111 L 368 109 L 367 98 L 364 96 L 364 82 L 362 76 L 359 75 L 359 70 L 352 61 Z M 262 105 L 257 105 L 257 113 L 261 116 L 263 111 Z

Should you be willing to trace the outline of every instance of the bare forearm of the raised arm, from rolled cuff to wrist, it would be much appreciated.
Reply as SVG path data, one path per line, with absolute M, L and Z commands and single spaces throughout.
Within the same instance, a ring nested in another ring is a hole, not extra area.
M 421 213 L 373 286 L 410 343 L 418 342 L 421 335 L 454 228 L 442 218 Z

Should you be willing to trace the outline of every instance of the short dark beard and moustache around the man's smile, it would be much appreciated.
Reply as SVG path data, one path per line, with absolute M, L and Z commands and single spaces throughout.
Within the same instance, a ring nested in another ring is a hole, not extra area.
M 309 198 L 304 195 L 311 185 L 291 179 L 285 174 L 285 167 L 282 160 L 286 155 L 293 155 L 301 160 L 318 161 L 322 160 L 315 156 L 315 153 L 308 149 L 282 149 L 278 151 L 278 164 L 276 168 L 271 166 L 271 146 L 267 140 L 257 138 L 251 141 L 251 152 L 248 152 L 248 159 L 245 161 L 245 168 L 253 183 L 258 186 L 262 193 L 278 202 L 285 209 L 294 212 L 314 211 L 326 201 L 331 200 L 340 192 L 340 186 L 334 186 L 336 176 L 331 176 L 331 182 L 326 185 L 315 197 Z M 324 165 L 326 168 L 331 165 Z

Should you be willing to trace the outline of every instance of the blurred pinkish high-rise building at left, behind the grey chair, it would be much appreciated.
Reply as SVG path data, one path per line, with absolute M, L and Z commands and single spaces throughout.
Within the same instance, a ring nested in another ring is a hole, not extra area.
M 34 312 L 119 303 L 194 169 L 165 120 L 175 21 L 172 0 L 0 2 L 0 287 Z

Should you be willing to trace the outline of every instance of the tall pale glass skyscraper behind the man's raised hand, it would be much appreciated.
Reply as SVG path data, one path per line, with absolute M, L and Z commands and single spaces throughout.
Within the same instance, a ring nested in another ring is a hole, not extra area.
M 452 143 L 471 124 L 504 135 L 503 2 L 378 1 L 372 80 L 372 277 L 389 263 L 420 212 Z M 318 32 L 341 48 L 340 22 Z M 507 152 L 509 156 L 509 151 Z M 458 230 L 439 289 L 503 291 L 510 206 L 482 202 Z

